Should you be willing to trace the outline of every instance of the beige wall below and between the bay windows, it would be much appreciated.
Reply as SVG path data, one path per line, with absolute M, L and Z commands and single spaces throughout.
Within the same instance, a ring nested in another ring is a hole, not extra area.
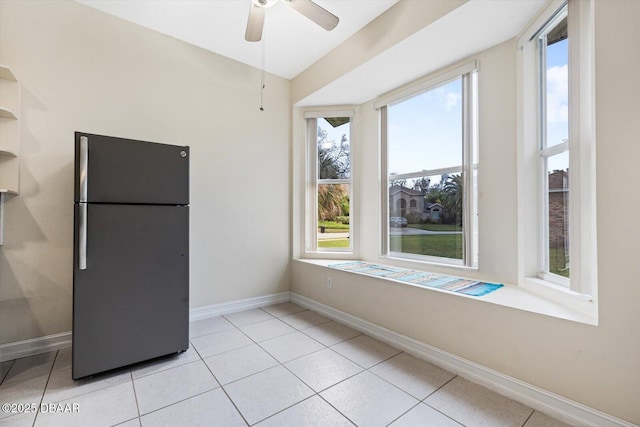
M 640 424 L 640 2 L 596 3 L 599 325 L 294 262 L 292 290 L 527 383 Z M 516 45 L 477 55 L 479 270 L 434 271 L 517 282 Z M 325 64 L 328 65 L 328 64 Z M 377 114 L 361 106 L 361 257 L 379 261 Z M 295 135 L 294 135 L 295 136 Z M 301 144 L 299 138 L 294 144 Z M 294 206 L 295 207 L 295 206 Z M 297 232 L 298 230 L 296 230 Z

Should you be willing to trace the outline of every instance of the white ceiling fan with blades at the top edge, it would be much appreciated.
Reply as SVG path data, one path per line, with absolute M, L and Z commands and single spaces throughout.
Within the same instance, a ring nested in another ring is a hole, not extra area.
M 267 7 L 272 6 L 278 0 L 251 0 L 247 31 L 244 38 L 248 42 L 257 42 L 262 39 L 262 27 Z M 300 12 L 327 31 L 333 30 L 338 25 L 338 17 L 318 6 L 311 0 L 281 0 L 296 11 Z

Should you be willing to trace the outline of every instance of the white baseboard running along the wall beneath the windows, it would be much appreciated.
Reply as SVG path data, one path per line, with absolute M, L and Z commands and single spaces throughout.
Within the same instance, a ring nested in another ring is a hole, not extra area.
M 295 292 L 291 292 L 291 302 L 344 323 L 353 329 L 438 365 L 567 424 L 598 427 L 637 427 L 635 424 L 504 375 L 359 317 L 336 310 Z

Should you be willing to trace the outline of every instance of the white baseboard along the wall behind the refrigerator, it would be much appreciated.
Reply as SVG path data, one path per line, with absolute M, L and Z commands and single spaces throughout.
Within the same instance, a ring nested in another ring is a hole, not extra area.
M 266 307 L 272 304 L 289 301 L 289 292 L 264 295 L 261 297 L 247 298 L 230 301 L 206 307 L 192 308 L 189 310 L 189 320 L 199 320 L 237 311 L 250 310 L 252 308 Z M 32 338 L 24 341 L 15 341 L 0 344 L 0 362 L 18 359 L 20 357 L 33 356 L 48 351 L 61 350 L 71 347 L 71 331 L 55 335 Z

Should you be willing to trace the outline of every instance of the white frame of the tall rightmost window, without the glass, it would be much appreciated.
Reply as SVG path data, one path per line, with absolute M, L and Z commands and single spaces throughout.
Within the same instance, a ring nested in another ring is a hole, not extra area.
M 541 145 L 544 90 L 539 36 L 567 7 L 569 37 L 569 139 Z M 597 317 L 595 177 L 595 61 L 592 0 L 553 0 L 517 39 L 518 46 L 518 284 L 582 313 Z M 543 223 L 548 177 L 544 156 L 569 151 L 570 279 L 548 270 Z

